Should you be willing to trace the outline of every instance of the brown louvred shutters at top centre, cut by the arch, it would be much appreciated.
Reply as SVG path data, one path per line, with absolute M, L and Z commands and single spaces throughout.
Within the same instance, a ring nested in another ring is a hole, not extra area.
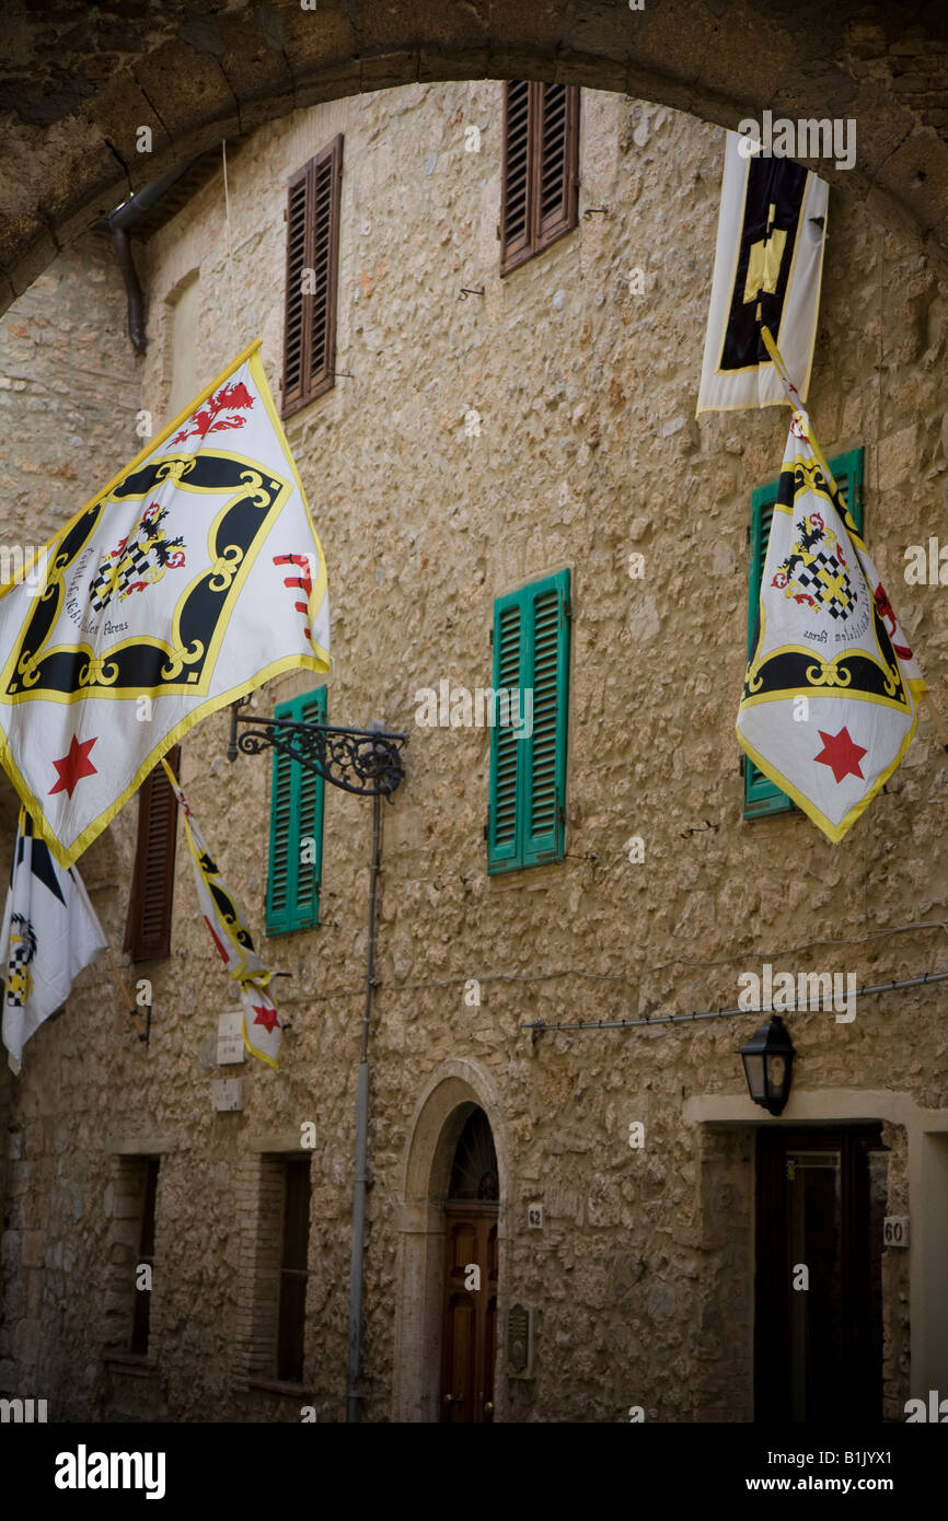
M 578 221 L 580 88 L 513 81 L 504 91 L 501 274 Z

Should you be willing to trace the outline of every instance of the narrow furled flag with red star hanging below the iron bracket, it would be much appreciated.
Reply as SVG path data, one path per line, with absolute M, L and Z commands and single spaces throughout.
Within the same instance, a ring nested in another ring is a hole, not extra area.
M 251 1056 L 260 1057 L 268 1066 L 275 1066 L 283 1031 L 277 1007 L 265 992 L 272 972 L 263 966 L 263 961 L 254 951 L 240 905 L 224 882 L 218 870 L 218 862 L 207 849 L 204 835 L 192 814 L 190 803 L 181 791 L 172 768 L 167 760 L 163 760 L 161 765 L 184 815 L 187 849 L 195 868 L 198 902 L 201 903 L 204 923 L 221 952 L 224 966 L 240 987 L 243 1045 Z

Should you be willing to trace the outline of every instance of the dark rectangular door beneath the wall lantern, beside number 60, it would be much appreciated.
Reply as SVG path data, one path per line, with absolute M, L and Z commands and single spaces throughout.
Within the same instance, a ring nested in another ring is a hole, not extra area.
M 883 1418 L 880 1132 L 758 1132 L 758 1421 Z

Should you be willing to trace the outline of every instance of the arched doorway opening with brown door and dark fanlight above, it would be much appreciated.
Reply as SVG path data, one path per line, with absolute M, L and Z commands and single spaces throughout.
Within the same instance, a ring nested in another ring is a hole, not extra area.
M 493 1421 L 498 1349 L 498 1154 L 473 1107 L 455 1145 L 444 1200 L 441 1422 Z

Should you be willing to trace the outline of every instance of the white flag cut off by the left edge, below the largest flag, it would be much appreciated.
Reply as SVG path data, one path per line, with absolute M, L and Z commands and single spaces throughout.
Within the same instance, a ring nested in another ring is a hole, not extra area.
M 3 1045 L 20 1071 L 23 1046 L 44 1019 L 68 998 L 73 978 L 107 940 L 79 872 L 53 861 L 33 835 L 32 818 L 20 809 L 14 868 L 6 894 L 0 954 Z

